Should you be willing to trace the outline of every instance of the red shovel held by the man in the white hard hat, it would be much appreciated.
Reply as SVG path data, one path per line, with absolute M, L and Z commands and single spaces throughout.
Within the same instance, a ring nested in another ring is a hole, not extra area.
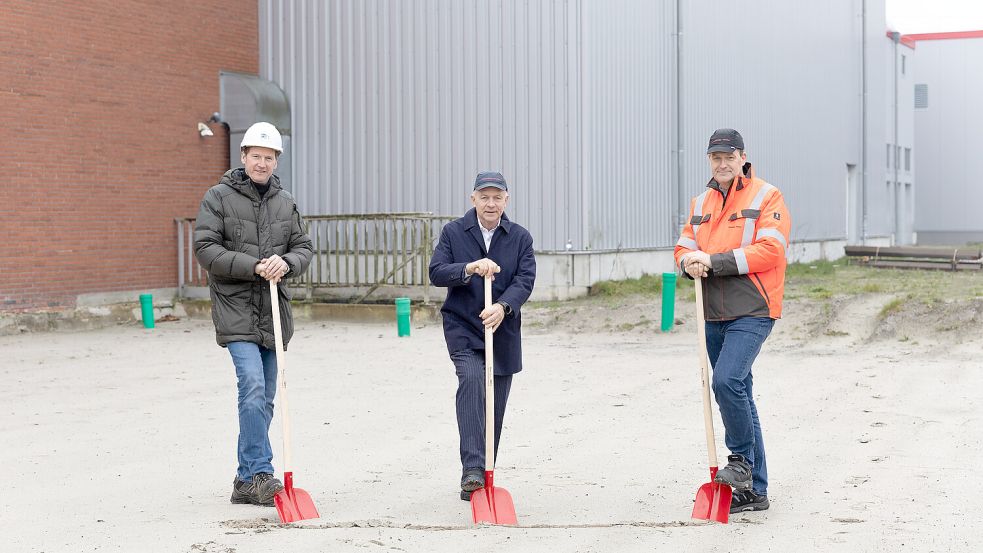
M 290 472 L 290 409 L 287 404 L 287 365 L 283 361 L 283 327 L 280 326 L 280 295 L 277 282 L 270 281 L 270 305 L 273 307 L 273 337 L 276 342 L 276 366 L 280 392 L 280 416 L 283 419 L 283 489 L 273 496 L 276 512 L 283 522 L 320 518 L 311 496 L 294 487 Z

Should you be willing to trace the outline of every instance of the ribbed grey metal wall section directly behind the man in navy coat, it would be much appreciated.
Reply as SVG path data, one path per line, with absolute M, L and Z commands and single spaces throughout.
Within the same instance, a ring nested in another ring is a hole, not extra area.
M 537 248 L 577 239 L 579 15 L 574 0 L 260 0 L 301 208 L 460 214 L 494 169 Z

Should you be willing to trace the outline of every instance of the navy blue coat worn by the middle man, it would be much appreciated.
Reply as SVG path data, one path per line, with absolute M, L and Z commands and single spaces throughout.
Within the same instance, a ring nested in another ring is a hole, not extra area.
M 502 269 L 492 282 L 492 301 L 512 308 L 495 331 L 495 374 L 515 374 L 522 370 L 521 307 L 536 282 L 536 257 L 529 231 L 509 221 L 504 213 L 487 252 L 473 208 L 440 233 L 430 261 L 430 282 L 448 288 L 440 309 L 447 351 L 485 349 L 485 326 L 478 316 L 485 308 L 485 279 L 479 275 L 464 279 L 464 266 L 484 257 Z

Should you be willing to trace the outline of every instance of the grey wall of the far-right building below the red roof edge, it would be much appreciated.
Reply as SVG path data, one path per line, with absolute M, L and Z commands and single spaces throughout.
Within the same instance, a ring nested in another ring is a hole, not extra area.
M 983 130 L 983 36 L 918 40 L 915 84 L 927 106 L 915 109 L 915 230 L 918 241 L 983 241 L 983 187 L 975 175 Z

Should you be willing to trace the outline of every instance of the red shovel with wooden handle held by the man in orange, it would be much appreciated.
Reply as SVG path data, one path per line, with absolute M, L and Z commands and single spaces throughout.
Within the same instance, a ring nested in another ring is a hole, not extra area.
M 710 458 L 710 481 L 696 490 L 693 518 L 715 520 L 727 524 L 730 516 L 730 486 L 713 481 L 717 475 L 717 442 L 713 436 L 713 416 L 710 414 L 710 362 L 707 360 L 706 324 L 703 315 L 703 279 L 696 278 L 696 335 L 700 341 L 700 369 L 703 374 L 703 423 L 707 431 L 707 453 Z

